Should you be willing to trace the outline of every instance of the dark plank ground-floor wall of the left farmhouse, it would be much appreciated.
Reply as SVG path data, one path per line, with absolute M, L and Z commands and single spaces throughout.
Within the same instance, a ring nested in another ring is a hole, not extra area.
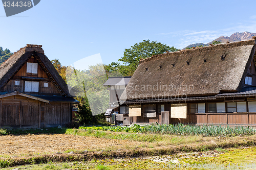
M 1 128 L 65 126 L 71 121 L 70 103 L 44 103 L 14 95 L 0 99 Z M 38 126 L 39 125 L 39 126 Z

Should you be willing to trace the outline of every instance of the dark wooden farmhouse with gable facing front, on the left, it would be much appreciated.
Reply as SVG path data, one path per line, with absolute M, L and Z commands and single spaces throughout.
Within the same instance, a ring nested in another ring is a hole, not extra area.
M 65 126 L 72 97 L 41 45 L 27 44 L 0 66 L 1 128 Z

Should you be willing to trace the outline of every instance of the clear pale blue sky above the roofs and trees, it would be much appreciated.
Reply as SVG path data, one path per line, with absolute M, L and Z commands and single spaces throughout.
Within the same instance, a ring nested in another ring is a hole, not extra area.
M 184 48 L 235 32 L 256 33 L 254 6 L 255 1 L 41 0 L 10 17 L 2 6 L 0 46 L 16 52 L 27 43 L 41 44 L 62 65 L 92 55 L 110 64 L 144 39 Z

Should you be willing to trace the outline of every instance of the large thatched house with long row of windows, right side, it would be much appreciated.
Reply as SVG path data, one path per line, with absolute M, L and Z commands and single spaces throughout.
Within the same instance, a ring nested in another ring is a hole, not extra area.
M 255 126 L 255 44 L 211 44 L 142 59 L 120 106 L 129 106 L 131 124 Z

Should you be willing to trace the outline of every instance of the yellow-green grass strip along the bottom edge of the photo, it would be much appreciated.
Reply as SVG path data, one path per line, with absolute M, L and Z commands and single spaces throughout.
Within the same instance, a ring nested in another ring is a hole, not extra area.
M 220 148 L 221 149 L 221 148 Z M 221 149 L 222 150 L 222 149 Z M 204 152 L 201 153 L 202 155 Z M 186 156 L 188 157 L 186 157 Z M 214 157 L 195 157 L 198 153 L 191 153 L 191 154 L 181 154 L 181 155 L 164 155 L 160 158 L 168 158 L 169 160 L 177 160 L 177 163 L 171 162 L 156 162 L 155 157 L 152 158 L 123 158 L 123 159 L 93 159 L 91 161 L 73 161 L 73 162 L 65 162 L 65 163 L 54 163 L 50 162 L 47 164 L 40 164 L 40 165 L 23 165 L 17 166 L 13 168 L 5 168 L 5 169 L 94 169 L 94 170 L 109 170 L 109 169 L 199 169 L 199 168 L 189 168 L 189 167 L 179 167 L 179 164 L 189 163 L 192 164 L 210 164 L 216 165 L 214 168 L 211 169 L 255 169 L 256 168 L 256 148 L 238 148 L 238 149 L 227 149 L 223 153 L 220 153 Z M 236 167 L 241 166 L 242 167 Z M 172 168 L 175 165 L 176 168 Z M 220 167 L 220 165 L 224 165 L 224 167 Z M 245 168 L 245 165 L 247 166 Z M 167 167 L 168 168 L 163 168 Z M 233 167 L 232 167 L 233 166 Z M 178 168 L 177 168 L 178 167 Z M 4 169 L 4 170 L 5 170 Z M 205 169 L 205 168 L 200 168 Z

